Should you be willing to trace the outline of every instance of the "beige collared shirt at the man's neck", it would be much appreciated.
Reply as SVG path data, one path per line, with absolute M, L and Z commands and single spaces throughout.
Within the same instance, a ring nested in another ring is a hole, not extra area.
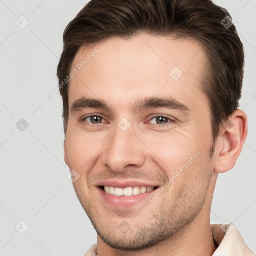
M 211 232 L 215 243 L 218 244 L 212 256 L 255 256 L 246 246 L 233 222 L 227 225 L 213 224 L 211 225 Z M 85 256 L 96 255 L 97 245 L 93 244 Z

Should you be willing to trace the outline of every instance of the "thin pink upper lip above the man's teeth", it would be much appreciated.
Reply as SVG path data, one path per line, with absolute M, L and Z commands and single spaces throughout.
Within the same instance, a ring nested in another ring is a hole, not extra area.
M 119 188 L 125 188 L 125 187 L 134 187 L 134 186 L 153 186 L 158 187 L 159 184 L 155 182 L 146 182 L 141 180 L 116 180 L 116 179 L 108 179 L 105 181 L 101 181 L 96 184 L 96 186 L 113 186 L 113 187 L 119 187 Z

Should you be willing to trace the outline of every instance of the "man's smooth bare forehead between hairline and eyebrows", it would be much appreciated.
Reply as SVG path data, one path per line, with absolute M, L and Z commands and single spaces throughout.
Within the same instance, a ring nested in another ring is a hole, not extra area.
M 156 94 L 199 100 L 204 97 L 200 85 L 205 59 L 194 40 L 147 34 L 81 46 L 72 63 L 77 74 L 69 83 L 69 106 L 81 96 L 104 98 L 116 106 Z

